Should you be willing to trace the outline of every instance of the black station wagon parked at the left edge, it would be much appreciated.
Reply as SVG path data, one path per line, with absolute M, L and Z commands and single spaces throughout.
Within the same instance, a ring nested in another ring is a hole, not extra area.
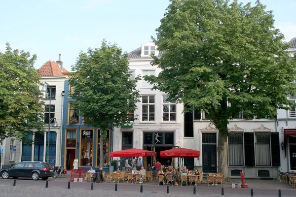
M 31 177 L 33 180 L 47 180 L 54 175 L 54 168 L 46 162 L 21 162 L 9 168 L 0 169 L 2 179 Z

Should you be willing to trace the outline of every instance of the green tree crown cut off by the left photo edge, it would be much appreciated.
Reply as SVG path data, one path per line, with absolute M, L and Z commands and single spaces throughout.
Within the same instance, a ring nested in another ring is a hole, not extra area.
M 43 131 L 43 101 L 36 97 L 40 78 L 29 52 L 6 51 L 0 54 L 0 138 L 22 139 L 34 131 Z

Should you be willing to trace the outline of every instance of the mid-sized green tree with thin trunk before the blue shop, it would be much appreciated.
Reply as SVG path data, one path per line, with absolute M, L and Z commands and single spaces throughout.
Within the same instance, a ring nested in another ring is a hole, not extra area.
M 136 89 L 139 78 L 131 79 L 128 65 L 127 54 L 104 40 L 100 48 L 80 53 L 72 67 L 75 72 L 69 77 L 69 84 L 82 93 L 81 97 L 73 94 L 76 101 L 71 104 L 85 124 L 100 128 L 100 166 L 104 164 L 106 129 L 133 121 L 129 112 L 139 102 Z

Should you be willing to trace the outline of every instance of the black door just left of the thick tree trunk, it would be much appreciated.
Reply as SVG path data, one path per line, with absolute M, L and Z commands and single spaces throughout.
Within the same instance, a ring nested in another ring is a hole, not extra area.
M 206 173 L 217 172 L 217 147 L 216 145 L 202 145 L 202 171 Z

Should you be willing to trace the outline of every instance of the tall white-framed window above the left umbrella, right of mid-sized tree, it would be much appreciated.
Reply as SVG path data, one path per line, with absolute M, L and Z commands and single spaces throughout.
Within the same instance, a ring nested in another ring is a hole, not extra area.
M 154 121 L 155 119 L 155 99 L 154 96 L 142 97 L 142 121 Z

